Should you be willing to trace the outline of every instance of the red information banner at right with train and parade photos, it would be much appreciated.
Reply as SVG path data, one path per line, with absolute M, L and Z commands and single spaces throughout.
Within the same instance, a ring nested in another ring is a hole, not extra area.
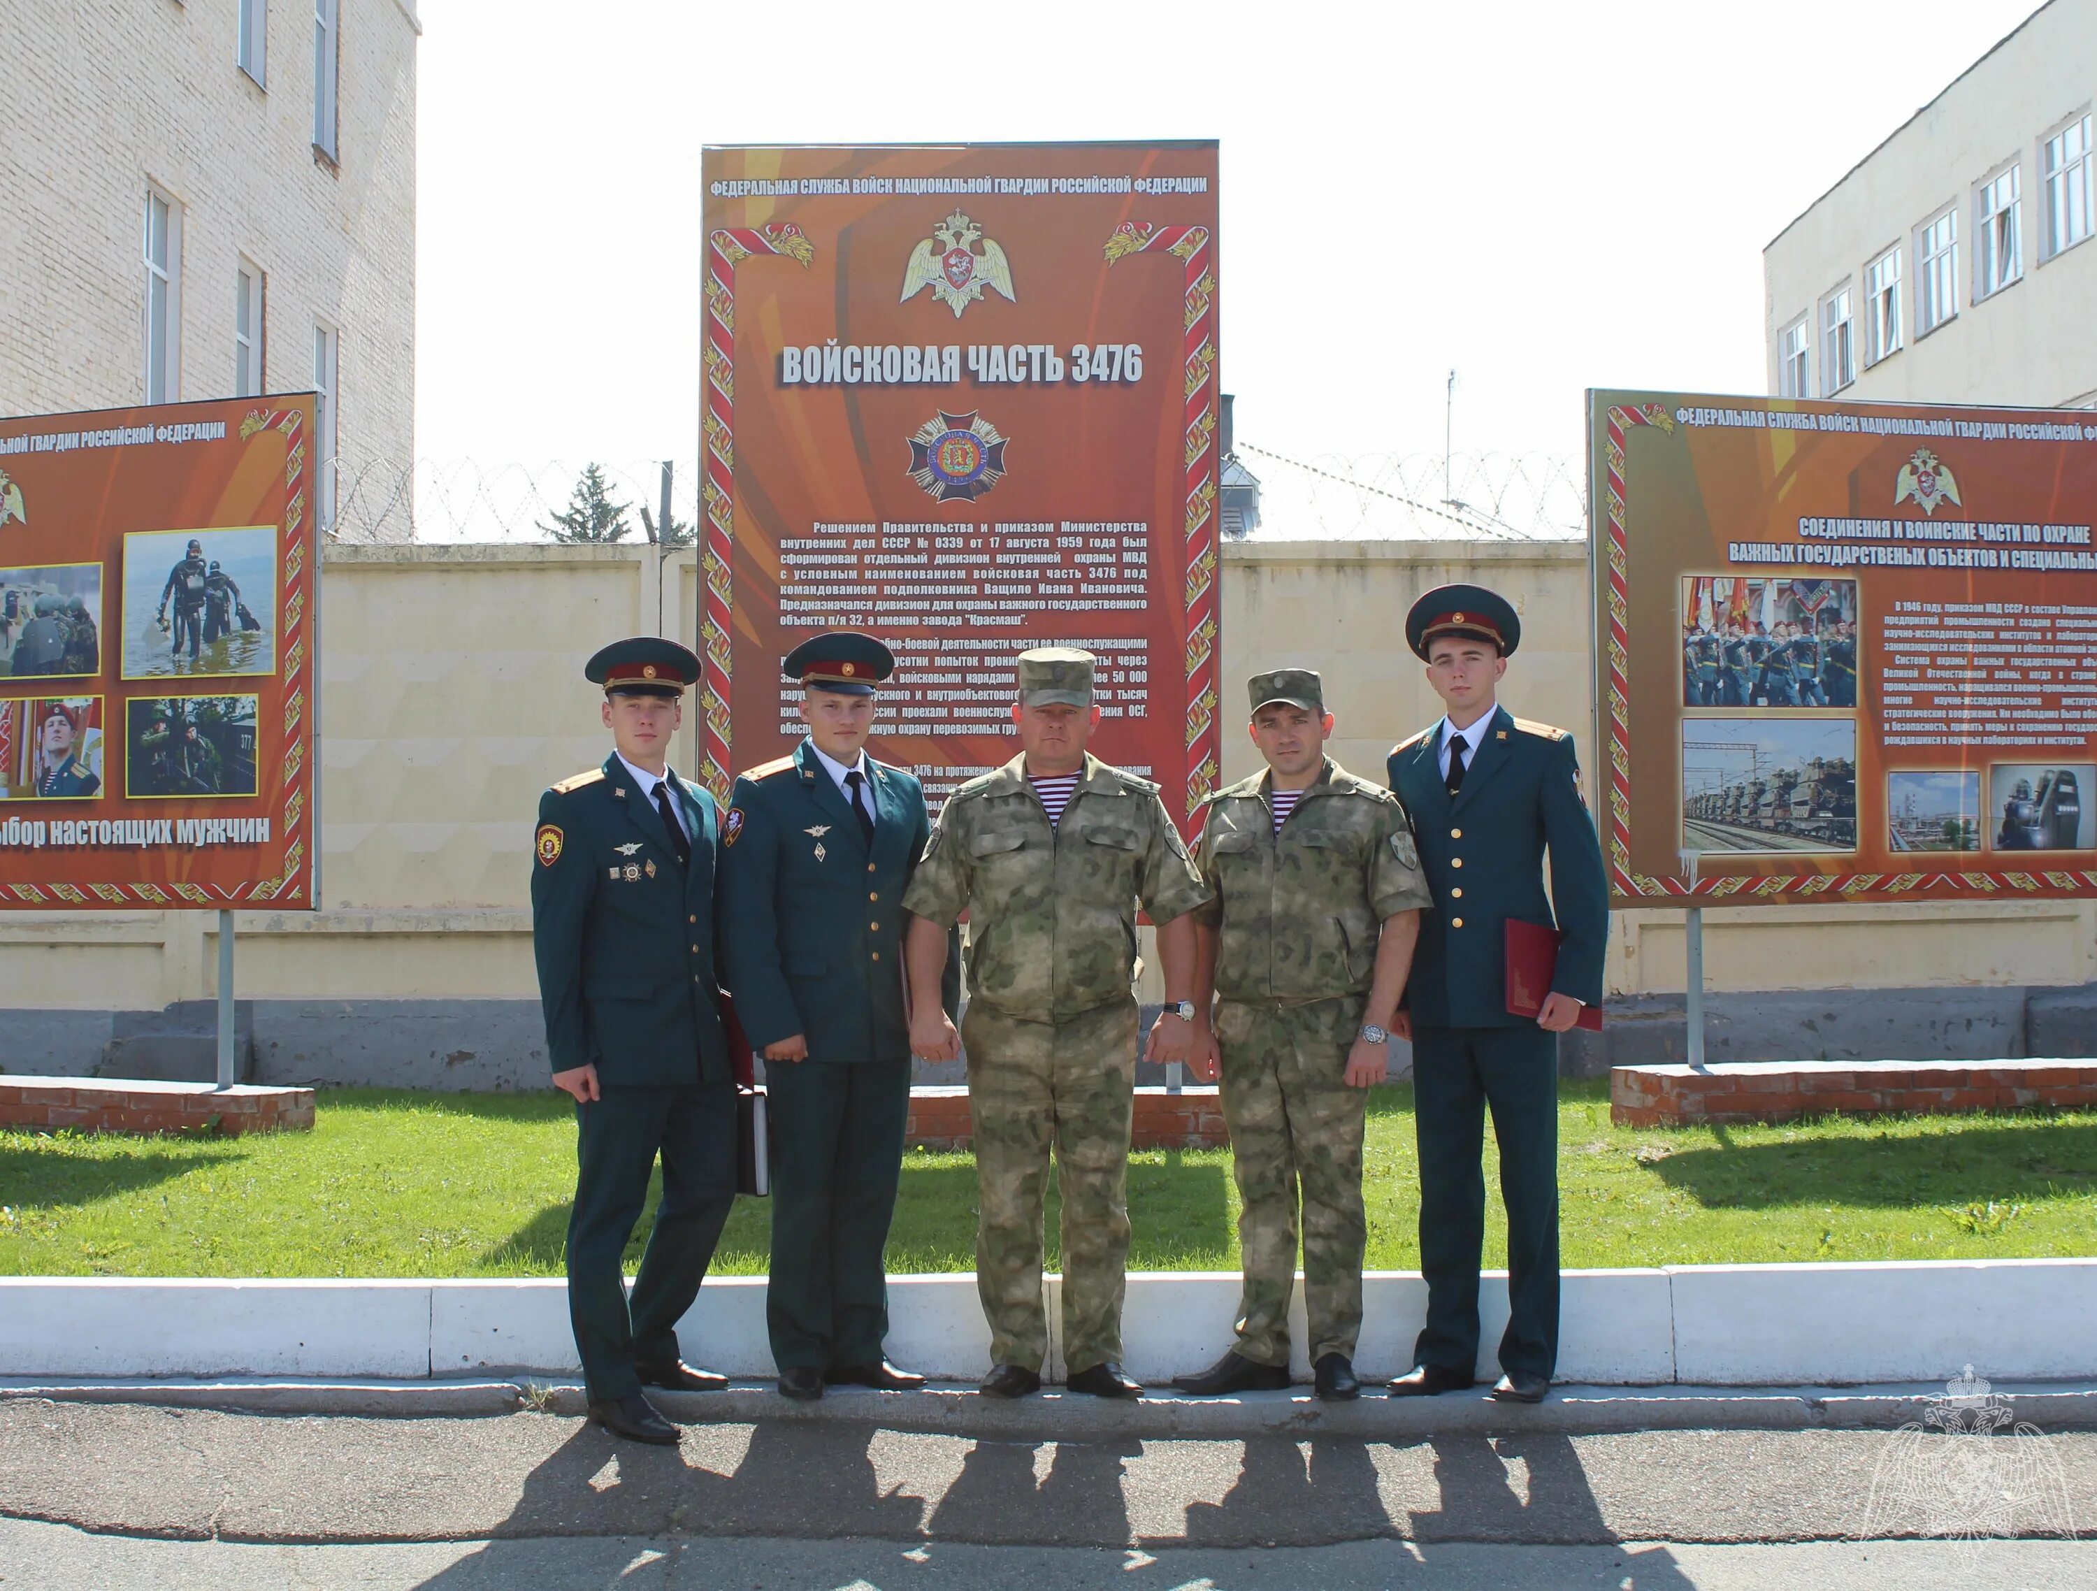
M 2097 415 L 1587 396 L 1619 906 L 2097 895 Z

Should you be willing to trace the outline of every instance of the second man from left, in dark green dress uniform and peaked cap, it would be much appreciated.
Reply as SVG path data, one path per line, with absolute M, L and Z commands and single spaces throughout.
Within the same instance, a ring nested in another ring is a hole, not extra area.
M 797 1400 L 925 1386 L 881 1346 L 910 1117 L 902 897 L 931 832 L 916 778 L 866 755 L 893 669 L 872 635 L 797 646 L 807 740 L 736 780 L 721 830 L 721 968 L 772 1115 L 765 1325 Z

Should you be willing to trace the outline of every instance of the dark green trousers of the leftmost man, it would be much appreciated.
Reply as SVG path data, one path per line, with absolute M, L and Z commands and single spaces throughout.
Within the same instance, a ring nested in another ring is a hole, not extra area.
M 608 1086 L 575 1107 L 577 1178 L 568 1216 L 568 1318 L 589 1398 L 642 1390 L 633 1363 L 677 1358 L 677 1321 L 713 1262 L 736 1203 L 736 1086 Z M 663 1201 L 627 1302 L 621 1256 L 663 1157 Z

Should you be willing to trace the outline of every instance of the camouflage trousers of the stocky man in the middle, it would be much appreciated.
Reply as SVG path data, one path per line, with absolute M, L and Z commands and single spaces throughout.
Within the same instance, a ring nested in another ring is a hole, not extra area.
M 1063 1365 L 1078 1373 L 1120 1360 L 1137 1002 L 1028 1023 L 971 1000 L 960 1040 L 975 1132 L 975 1289 L 990 1321 L 990 1363 L 1038 1371 L 1048 1354 L 1042 1199 L 1051 1149 L 1063 1193 Z

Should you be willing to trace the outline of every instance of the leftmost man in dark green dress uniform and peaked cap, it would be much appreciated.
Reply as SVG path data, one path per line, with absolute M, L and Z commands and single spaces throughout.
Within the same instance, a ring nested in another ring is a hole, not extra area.
M 675 1444 L 642 1386 L 709 1392 L 726 1377 L 677 1354 L 677 1321 L 736 1201 L 736 1086 L 713 960 L 719 813 L 669 767 L 698 658 L 614 641 L 583 671 L 604 685 L 604 767 L 539 797 L 533 954 L 554 1086 L 575 1096 L 568 1314 L 589 1417 Z M 627 1304 L 621 1256 L 663 1157 L 663 1201 Z

